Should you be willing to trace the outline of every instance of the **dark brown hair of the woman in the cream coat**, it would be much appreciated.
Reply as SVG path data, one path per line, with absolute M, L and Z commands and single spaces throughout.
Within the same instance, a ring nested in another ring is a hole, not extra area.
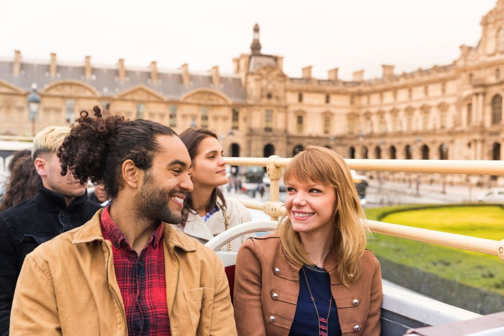
M 180 133 L 180 140 L 182 140 L 185 147 L 187 148 L 189 156 L 191 157 L 191 161 L 193 161 L 194 158 L 198 155 L 198 149 L 200 147 L 200 143 L 208 137 L 217 139 L 217 135 L 211 130 L 206 128 L 198 128 L 198 129 L 187 128 L 186 130 Z M 196 211 L 193 208 L 193 200 L 191 197 L 191 193 L 192 192 L 187 194 L 187 197 L 185 198 L 184 201 L 184 206 L 182 208 L 182 222 L 181 222 L 182 225 L 185 225 L 185 222 L 187 222 L 187 216 L 189 215 L 189 212 L 196 213 Z M 224 194 L 222 193 L 219 187 L 215 187 L 212 190 L 212 194 L 210 195 L 210 201 L 205 209 L 207 213 L 210 212 L 210 210 L 212 210 L 213 208 L 215 208 L 215 206 L 217 205 L 218 198 L 221 200 L 222 206 L 226 207 L 226 199 L 224 198 Z

